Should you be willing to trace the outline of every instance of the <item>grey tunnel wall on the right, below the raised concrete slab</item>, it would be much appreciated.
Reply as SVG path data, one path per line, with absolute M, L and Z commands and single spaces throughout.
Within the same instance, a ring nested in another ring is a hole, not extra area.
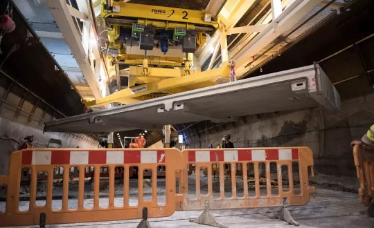
M 344 98 L 339 112 L 317 107 L 249 115 L 237 122 L 199 122 L 184 132 L 186 143 L 190 148 L 206 148 L 208 144 L 215 148 L 224 134 L 229 134 L 235 148 L 308 146 L 314 155 L 315 182 L 358 189 L 350 142 L 359 140 L 374 124 L 374 93 L 373 88 L 368 88 L 366 77 L 345 84 L 348 85 L 337 85 Z M 345 91 L 344 88 L 349 89 Z M 347 96 L 352 90 L 365 93 L 357 97 Z

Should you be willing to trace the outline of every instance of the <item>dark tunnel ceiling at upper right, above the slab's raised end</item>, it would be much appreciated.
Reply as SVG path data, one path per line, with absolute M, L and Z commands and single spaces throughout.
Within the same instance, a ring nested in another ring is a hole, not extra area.
M 374 74 L 371 73 L 374 69 L 373 11 L 374 1 L 355 1 L 348 12 L 341 12 L 330 19 L 328 23 L 286 50 L 281 56 L 275 57 L 247 77 L 308 66 L 316 61 L 332 83 L 338 83 L 335 86 L 343 95 L 341 99 L 348 98 L 344 97 L 346 93 L 342 92 L 348 89 L 345 85 L 349 86 L 349 84 L 344 85 L 339 82 L 357 75 L 367 80 L 367 88 L 372 91 L 370 81 L 373 84 Z M 362 42 L 355 44 L 357 41 Z M 337 53 L 344 48 L 346 50 Z M 337 55 L 321 61 L 335 53 Z M 366 74 L 366 71 L 369 73 Z

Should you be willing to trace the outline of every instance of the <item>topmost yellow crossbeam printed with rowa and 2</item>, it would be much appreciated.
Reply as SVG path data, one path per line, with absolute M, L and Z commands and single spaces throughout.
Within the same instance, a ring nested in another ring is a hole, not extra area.
M 170 8 L 163 6 L 150 6 L 134 3 L 113 2 L 114 8 L 119 7 L 119 12 L 107 12 L 102 8 L 101 15 L 106 17 L 132 17 L 154 19 L 160 21 L 178 21 L 183 23 L 193 23 L 199 25 L 212 26 L 218 28 L 215 22 L 204 21 L 204 11 L 187 10 L 180 8 Z M 202 19 L 203 18 L 203 19 Z

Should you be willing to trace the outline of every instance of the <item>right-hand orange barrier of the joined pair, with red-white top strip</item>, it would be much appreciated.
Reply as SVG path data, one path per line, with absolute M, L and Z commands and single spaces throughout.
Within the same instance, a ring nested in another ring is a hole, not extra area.
M 195 189 L 196 196 L 191 198 L 188 193 L 191 183 L 188 174 L 183 176 L 183 188 L 186 189 L 182 210 L 205 209 L 208 202 L 210 209 L 254 208 L 254 207 L 280 207 L 287 198 L 287 205 L 305 205 L 310 200 L 310 194 L 315 194 L 315 187 L 309 186 L 308 167 L 313 175 L 313 154 L 307 147 L 296 148 L 256 148 L 256 149 L 188 149 L 182 152 L 187 165 L 195 164 Z M 299 167 L 299 193 L 294 192 L 293 167 Z M 219 167 L 219 169 L 217 169 Z M 228 173 L 225 173 L 230 167 Z M 260 168 L 262 168 L 260 170 Z M 273 169 L 273 170 L 271 170 Z M 207 170 L 207 192 L 200 192 L 202 175 L 200 172 Z M 213 193 L 212 175 L 219 173 L 216 182 L 218 189 Z M 239 172 L 238 172 L 239 171 Z M 271 171 L 274 181 L 271 180 Z M 240 173 L 242 182 L 242 196 L 238 196 L 237 175 Z M 226 174 L 226 178 L 225 178 Z M 253 194 L 249 194 L 249 175 L 253 176 Z M 286 178 L 283 176 L 285 175 Z M 263 176 L 263 178 L 262 178 Z M 260 179 L 266 183 L 260 186 Z M 287 180 L 285 180 L 287 179 Z M 283 186 L 287 184 L 287 187 Z M 226 184 L 225 182 L 229 182 Z M 229 189 L 228 186 L 229 185 Z M 276 188 L 274 188 L 276 187 Z M 225 189 L 231 196 L 226 196 Z

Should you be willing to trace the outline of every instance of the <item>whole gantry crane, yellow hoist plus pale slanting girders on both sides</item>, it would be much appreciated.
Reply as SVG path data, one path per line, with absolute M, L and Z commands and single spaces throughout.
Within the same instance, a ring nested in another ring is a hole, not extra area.
M 132 104 L 235 81 L 235 76 L 240 78 L 278 55 L 285 44 L 270 44 L 310 10 L 330 4 L 328 0 L 269 0 L 257 15 L 251 15 L 247 26 L 238 26 L 258 1 L 211 0 L 205 10 L 131 0 L 76 1 L 78 9 L 64 0 L 46 3 L 82 72 L 84 78 L 73 88 L 88 107 Z M 76 31 L 74 19 L 82 21 L 82 31 Z M 233 34 L 242 36 L 228 45 L 227 36 Z

